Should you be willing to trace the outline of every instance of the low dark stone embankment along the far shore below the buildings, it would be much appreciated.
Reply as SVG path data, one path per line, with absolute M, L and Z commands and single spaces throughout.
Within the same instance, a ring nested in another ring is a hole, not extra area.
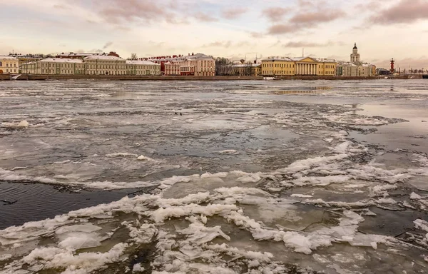
M 422 78 L 412 76 L 413 78 Z M 375 80 L 384 76 L 344 77 L 344 76 L 277 76 L 276 80 Z M 263 76 L 131 76 L 131 75 L 40 75 L 21 74 L 16 80 L 104 80 L 104 81 L 248 81 L 264 80 Z M 409 79 L 409 76 L 395 76 L 392 79 Z M 0 81 L 11 80 L 9 74 L 0 74 Z

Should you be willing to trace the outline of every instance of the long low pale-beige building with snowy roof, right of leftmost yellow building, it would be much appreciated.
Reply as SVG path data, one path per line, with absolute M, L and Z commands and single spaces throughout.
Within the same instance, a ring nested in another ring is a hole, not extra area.
M 86 69 L 81 59 L 46 58 L 21 64 L 21 73 L 75 75 L 85 74 Z

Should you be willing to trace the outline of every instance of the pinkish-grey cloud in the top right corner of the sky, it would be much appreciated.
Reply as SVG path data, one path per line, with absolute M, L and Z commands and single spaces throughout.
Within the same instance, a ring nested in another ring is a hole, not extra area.
M 372 23 L 383 25 L 413 23 L 419 19 L 428 19 L 427 0 L 401 0 L 370 17 Z

